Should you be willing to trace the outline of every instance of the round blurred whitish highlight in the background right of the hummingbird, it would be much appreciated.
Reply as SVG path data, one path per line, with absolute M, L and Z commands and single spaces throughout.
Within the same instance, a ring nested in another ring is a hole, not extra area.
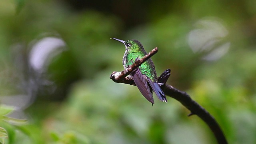
M 196 27 L 188 34 L 188 44 L 193 52 L 206 53 L 203 60 L 218 60 L 228 52 L 230 42 L 220 42 L 228 35 L 228 30 L 219 19 L 204 18 L 196 22 Z

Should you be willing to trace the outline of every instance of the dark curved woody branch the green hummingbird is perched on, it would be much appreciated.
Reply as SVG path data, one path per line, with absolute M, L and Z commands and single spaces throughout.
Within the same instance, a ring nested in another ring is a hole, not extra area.
M 133 70 L 138 68 L 143 62 L 148 60 L 151 56 L 156 54 L 157 48 L 154 48 L 151 52 L 149 52 L 146 56 L 139 59 L 137 58 L 131 66 L 123 70 L 122 72 L 113 72 L 110 75 L 110 79 L 117 83 L 124 83 L 136 86 L 132 77 L 129 75 Z M 222 132 L 220 126 L 214 119 L 214 117 L 207 112 L 202 106 L 200 106 L 197 102 L 192 100 L 192 98 L 186 93 L 182 92 L 173 86 L 166 84 L 168 78 L 170 77 L 170 69 L 165 70 L 159 77 L 158 83 L 160 84 L 162 90 L 167 96 L 170 96 L 176 100 L 178 100 L 183 106 L 185 106 L 188 110 L 190 110 L 190 114 L 188 116 L 197 115 L 200 117 L 212 130 L 214 136 L 219 144 L 227 144 L 227 140 Z M 129 75 L 129 76 L 128 76 Z

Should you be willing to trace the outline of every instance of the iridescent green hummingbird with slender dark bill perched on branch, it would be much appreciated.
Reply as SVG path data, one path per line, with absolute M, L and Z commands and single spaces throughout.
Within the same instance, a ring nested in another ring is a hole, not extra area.
M 147 52 L 144 50 L 142 44 L 138 40 L 119 40 L 117 38 L 112 38 L 119 42 L 122 42 L 125 46 L 125 52 L 123 57 L 123 66 L 127 68 L 132 65 L 136 58 L 144 57 Z M 162 89 L 160 88 L 154 63 L 151 58 L 146 60 L 138 68 L 136 68 L 130 74 L 134 80 L 134 83 L 140 90 L 141 94 L 149 101 L 154 104 L 154 98 L 152 96 L 152 90 L 156 93 L 158 99 L 162 102 L 167 102 L 166 96 Z

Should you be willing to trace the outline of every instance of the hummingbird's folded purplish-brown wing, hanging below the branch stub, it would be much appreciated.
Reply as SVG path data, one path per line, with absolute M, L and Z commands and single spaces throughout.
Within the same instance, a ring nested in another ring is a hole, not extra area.
M 132 73 L 132 78 L 142 93 L 142 95 L 152 104 L 154 104 L 154 98 L 152 96 L 152 89 L 148 86 L 148 82 L 143 74 L 140 72 L 139 68 L 136 68 Z

